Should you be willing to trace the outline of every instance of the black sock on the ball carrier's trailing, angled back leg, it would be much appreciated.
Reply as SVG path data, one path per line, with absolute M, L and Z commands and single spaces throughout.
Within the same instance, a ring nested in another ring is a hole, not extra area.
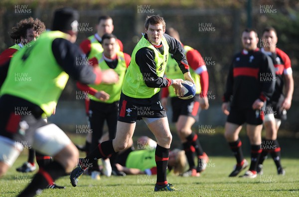
M 102 157 L 109 157 L 111 154 L 114 154 L 114 148 L 112 144 L 112 140 L 102 142 L 98 145 L 96 149 L 94 149 L 86 158 L 80 159 L 79 164 L 82 169 L 86 169 L 88 167 L 92 167 L 93 161 L 101 159 Z

